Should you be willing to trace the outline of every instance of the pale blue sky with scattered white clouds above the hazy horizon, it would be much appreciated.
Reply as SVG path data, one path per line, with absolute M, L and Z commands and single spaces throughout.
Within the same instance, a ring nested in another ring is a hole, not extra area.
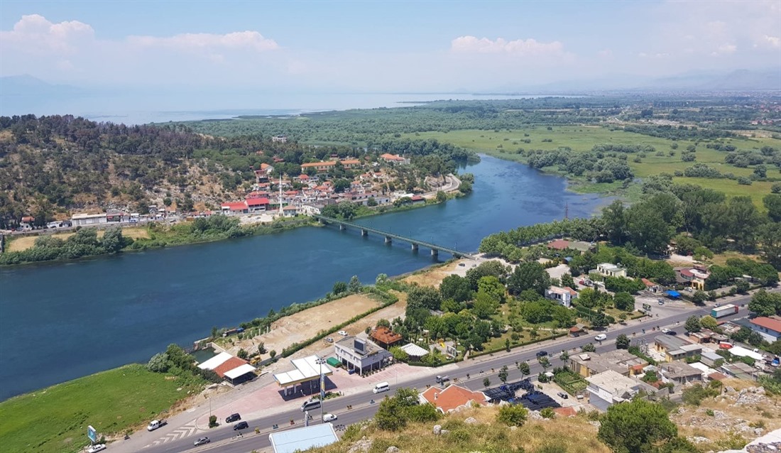
M 781 0 L 0 2 L 0 76 L 80 87 L 506 91 L 778 67 Z

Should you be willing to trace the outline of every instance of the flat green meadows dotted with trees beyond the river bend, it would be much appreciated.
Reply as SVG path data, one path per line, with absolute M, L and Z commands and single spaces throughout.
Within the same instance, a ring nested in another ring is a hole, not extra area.
M 524 134 L 529 134 L 526 137 Z M 439 141 L 449 142 L 468 148 L 476 152 L 483 152 L 501 159 L 508 159 L 517 162 L 524 162 L 524 159 L 515 154 L 518 148 L 554 150 L 559 147 L 569 147 L 573 151 L 590 151 L 595 144 L 651 144 L 656 151 L 664 152 L 664 156 L 648 153 L 642 162 L 633 162 L 636 155 L 629 154 L 627 162 L 632 167 L 635 176 L 647 177 L 652 174 L 670 173 L 676 170 L 683 170 L 686 167 L 700 162 L 707 164 L 721 173 L 733 173 L 736 176 L 749 176 L 753 173 L 753 168 L 739 168 L 724 163 L 726 152 L 719 152 L 714 149 L 706 148 L 704 142 L 697 145 L 696 162 L 683 162 L 680 159 L 682 151 L 694 141 L 672 141 L 662 137 L 651 137 L 643 134 L 624 132 L 622 130 L 609 130 L 606 127 L 594 126 L 553 126 L 547 130 L 545 126 L 530 126 L 522 130 L 451 130 L 450 132 L 419 132 L 416 134 L 406 134 L 408 138 L 436 138 Z M 544 142 L 543 139 L 551 139 L 550 142 Z M 530 140 L 530 143 L 524 143 L 524 140 Z M 774 148 L 781 148 L 781 140 L 770 137 L 758 138 L 725 138 L 719 140 L 723 144 L 733 144 L 741 150 L 758 149 L 769 145 Z M 677 144 L 678 148 L 673 150 L 672 144 Z M 670 156 L 669 152 L 674 151 L 675 155 Z M 781 173 L 776 167 L 768 165 L 768 177 L 773 179 L 781 178 Z M 549 173 L 558 173 L 555 168 L 546 168 Z M 705 178 L 687 178 L 676 177 L 676 183 L 699 184 L 703 187 L 710 187 L 723 191 L 729 196 L 749 195 L 754 203 L 762 207 L 762 197 L 770 193 L 772 182 L 755 181 L 750 186 L 737 184 L 735 180 L 728 179 L 705 179 Z M 572 190 L 578 192 L 594 192 L 604 194 L 615 194 L 621 191 L 621 182 L 612 184 L 594 184 L 586 180 L 572 180 Z M 629 189 L 631 191 L 631 189 Z M 626 195 L 626 193 L 624 193 Z

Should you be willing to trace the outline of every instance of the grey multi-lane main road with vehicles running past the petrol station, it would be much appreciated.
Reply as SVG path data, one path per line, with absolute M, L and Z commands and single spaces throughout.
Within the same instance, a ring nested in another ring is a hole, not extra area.
M 751 299 L 750 295 L 737 296 L 734 298 L 728 298 L 728 300 L 722 300 L 722 304 L 732 303 L 736 305 L 747 304 Z M 615 349 L 615 337 L 619 334 L 626 334 L 632 341 L 646 340 L 649 343 L 652 342 L 653 337 L 661 334 L 658 331 L 652 331 L 651 327 L 661 326 L 669 327 L 672 330 L 676 330 L 679 334 L 683 333 L 683 323 L 686 322 L 686 318 L 692 315 L 704 316 L 710 312 L 711 307 L 696 307 L 686 309 L 672 316 L 664 318 L 648 318 L 642 323 L 633 323 L 628 326 L 614 325 L 608 328 L 604 333 L 608 335 L 608 340 L 602 341 L 602 344 L 597 345 L 598 352 L 611 351 Z M 722 320 L 736 319 L 747 316 L 747 310 L 741 309 L 736 315 L 726 316 Z M 676 325 L 676 322 L 679 323 Z M 646 329 L 646 334 L 643 334 L 643 329 Z M 510 352 L 501 352 L 492 355 L 486 355 L 476 358 L 474 360 L 467 360 L 465 362 L 458 363 L 457 369 L 451 369 L 448 371 L 448 375 L 452 378 L 458 378 L 459 385 L 468 387 L 473 391 L 483 390 L 483 378 L 489 377 L 491 380 L 491 386 L 496 386 L 500 382 L 496 373 L 491 373 L 491 369 L 495 372 L 501 368 L 501 366 L 508 366 L 509 376 L 508 381 L 522 379 L 521 373 L 515 366 L 515 362 L 528 361 L 531 368 L 531 376 L 535 376 L 542 371 L 542 368 L 537 363 L 537 351 L 548 351 L 551 353 L 551 366 L 561 366 L 563 362 L 558 359 L 560 351 L 580 348 L 584 344 L 595 343 L 594 335 L 586 335 L 576 338 L 559 338 L 555 341 L 542 341 L 538 344 L 534 344 L 529 348 L 519 348 Z M 441 373 L 438 369 L 431 369 L 430 376 L 413 379 L 402 380 L 399 383 L 391 383 L 391 391 L 385 395 L 393 394 L 394 388 L 398 387 L 415 387 L 417 389 L 425 389 L 426 385 L 435 385 L 433 376 L 437 373 Z M 469 380 L 466 379 L 466 375 L 469 374 Z M 376 412 L 376 408 L 380 401 L 380 398 L 384 395 L 375 395 L 371 391 L 363 391 L 357 394 L 345 395 L 333 400 L 326 400 L 323 405 L 323 413 L 333 413 L 339 418 L 333 422 L 334 426 L 348 426 L 352 423 L 356 423 L 361 420 L 369 419 Z M 372 404 L 372 400 L 376 400 Z M 347 406 L 351 405 L 353 408 L 347 410 Z M 319 410 L 314 411 L 311 414 L 316 420 L 319 419 Z M 298 403 L 285 412 L 276 413 L 274 415 L 264 416 L 257 419 L 248 420 L 252 429 L 243 430 L 243 437 L 237 437 L 237 433 L 232 430 L 232 426 L 219 427 L 208 432 L 200 431 L 194 433 L 189 437 L 184 437 L 176 441 L 170 441 L 163 444 L 152 445 L 148 448 L 144 448 L 142 451 L 148 453 L 173 453 L 179 451 L 219 451 L 220 453 L 243 453 L 252 450 L 260 450 L 262 448 L 269 447 L 269 436 L 272 432 L 271 429 L 274 424 L 279 426 L 279 430 L 289 429 L 291 427 L 298 428 L 303 426 L 303 413 L 298 407 Z M 290 420 L 294 419 L 296 424 L 291 426 Z M 259 434 L 255 434 L 254 428 L 258 426 L 260 429 Z M 162 430 L 166 430 L 165 427 Z M 156 433 L 156 432 L 155 432 Z M 136 435 L 145 435 L 147 433 L 137 433 Z M 162 433 L 165 434 L 165 433 Z M 211 440 L 211 444 L 207 444 L 201 447 L 194 448 L 194 439 L 208 436 Z M 123 451 L 122 441 L 116 442 L 110 446 L 111 451 Z

